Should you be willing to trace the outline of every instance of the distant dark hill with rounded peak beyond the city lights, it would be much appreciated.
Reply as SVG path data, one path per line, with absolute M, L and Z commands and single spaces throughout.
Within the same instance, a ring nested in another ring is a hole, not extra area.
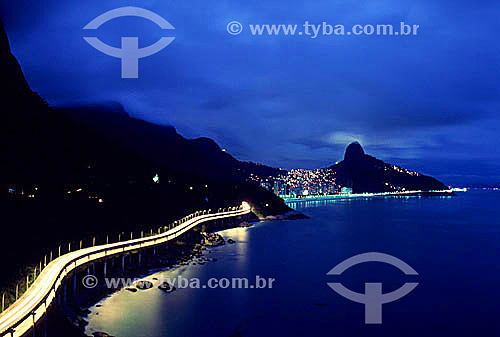
M 344 160 L 330 168 L 336 173 L 337 183 L 352 188 L 354 193 L 448 189 L 435 178 L 384 163 L 365 154 L 358 142 L 349 144 Z

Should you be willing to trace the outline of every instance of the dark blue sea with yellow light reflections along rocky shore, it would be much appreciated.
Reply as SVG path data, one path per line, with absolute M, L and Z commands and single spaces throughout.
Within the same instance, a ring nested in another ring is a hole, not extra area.
M 235 244 L 211 249 L 218 261 L 151 277 L 275 279 L 265 289 L 153 288 L 119 291 L 91 308 L 87 333 L 116 337 L 190 336 L 499 336 L 500 192 L 456 197 L 377 198 L 294 205 L 307 220 L 259 223 L 222 232 Z M 328 271 L 366 252 L 414 268 L 366 262 L 340 276 Z M 149 277 L 149 279 L 151 278 Z M 365 324 L 364 304 L 328 282 L 383 293 L 419 285 L 382 306 L 382 324 Z

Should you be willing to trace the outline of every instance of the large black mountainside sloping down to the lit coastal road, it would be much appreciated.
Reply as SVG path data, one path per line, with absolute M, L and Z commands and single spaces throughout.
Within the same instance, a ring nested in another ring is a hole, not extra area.
M 2 215 L 8 239 L 0 254 L 15 256 L 2 262 L 9 277 L 0 288 L 25 279 L 19 267 L 37 265 L 70 241 L 97 236 L 102 242 L 103 235 L 149 231 L 242 201 L 263 215 L 290 210 L 243 179 L 247 172 L 277 170 L 240 162 L 208 138 L 188 140 L 173 127 L 130 118 L 119 104 L 50 107 L 30 89 L 1 22 L 0 70 L 2 177 L 9 189 Z

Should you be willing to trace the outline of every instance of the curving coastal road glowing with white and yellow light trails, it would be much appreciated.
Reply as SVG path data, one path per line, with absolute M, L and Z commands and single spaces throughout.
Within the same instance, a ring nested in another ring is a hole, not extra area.
M 0 336 L 23 336 L 45 314 L 48 306 L 56 296 L 57 289 L 64 278 L 75 268 L 107 256 L 122 254 L 146 247 L 159 245 L 177 238 L 202 222 L 245 215 L 251 212 L 246 202 L 241 206 L 229 208 L 228 211 L 194 213 L 168 231 L 141 239 L 111 243 L 101 246 L 80 249 L 58 257 L 50 262 L 15 303 L 0 314 Z

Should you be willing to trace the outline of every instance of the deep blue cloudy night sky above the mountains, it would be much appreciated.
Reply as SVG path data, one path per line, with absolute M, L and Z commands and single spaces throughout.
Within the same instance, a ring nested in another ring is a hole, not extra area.
M 94 36 L 116 47 L 175 40 L 120 78 L 120 60 L 82 28 L 122 6 L 175 30 L 118 18 Z M 1 18 L 33 90 L 52 105 L 120 102 L 147 121 L 207 136 L 241 160 L 318 168 L 349 142 L 449 184 L 500 182 L 498 1 L 28 1 Z M 240 21 L 240 35 L 226 25 Z M 248 24 L 420 25 L 417 36 L 252 36 Z

